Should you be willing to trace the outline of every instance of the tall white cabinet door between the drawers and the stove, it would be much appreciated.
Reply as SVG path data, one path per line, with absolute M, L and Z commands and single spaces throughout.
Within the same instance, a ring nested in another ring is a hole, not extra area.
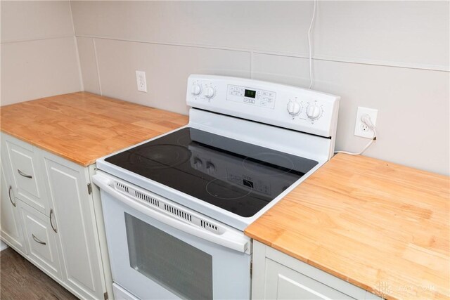
M 85 299 L 103 299 L 103 267 L 86 168 L 47 152 L 48 193 L 55 209 L 63 280 Z

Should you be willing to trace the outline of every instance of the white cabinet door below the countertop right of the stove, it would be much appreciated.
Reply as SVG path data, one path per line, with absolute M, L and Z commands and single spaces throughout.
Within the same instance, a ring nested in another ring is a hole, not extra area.
M 354 299 L 302 273 L 266 259 L 266 299 Z

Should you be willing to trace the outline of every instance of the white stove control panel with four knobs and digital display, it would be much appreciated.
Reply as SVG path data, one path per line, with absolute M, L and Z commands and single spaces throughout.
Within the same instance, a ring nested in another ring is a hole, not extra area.
M 186 93 L 192 107 L 318 136 L 333 136 L 340 97 L 266 81 L 191 75 Z

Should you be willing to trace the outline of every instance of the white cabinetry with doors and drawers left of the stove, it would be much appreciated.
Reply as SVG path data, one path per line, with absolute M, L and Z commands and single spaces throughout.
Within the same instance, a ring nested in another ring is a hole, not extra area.
M 94 166 L 5 133 L 1 162 L 1 239 L 80 299 L 105 299 L 109 266 L 96 223 L 101 208 L 94 209 L 100 200 L 88 188 Z

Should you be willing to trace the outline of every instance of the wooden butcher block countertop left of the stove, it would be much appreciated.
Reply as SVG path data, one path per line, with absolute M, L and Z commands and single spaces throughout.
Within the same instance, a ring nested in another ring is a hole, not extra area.
M 0 108 L 1 131 L 89 166 L 96 159 L 188 123 L 188 117 L 78 92 Z

